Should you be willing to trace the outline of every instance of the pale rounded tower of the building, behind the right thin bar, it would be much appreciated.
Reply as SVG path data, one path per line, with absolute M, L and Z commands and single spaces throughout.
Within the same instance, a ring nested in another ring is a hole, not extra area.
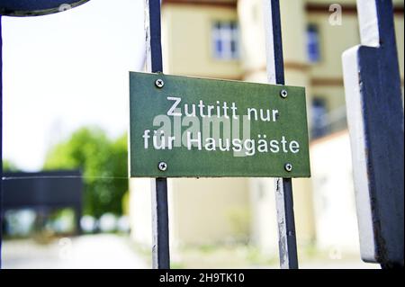
M 282 1 L 282 32 L 284 45 L 285 83 L 307 87 L 311 94 L 305 54 L 306 15 L 304 1 Z M 243 45 L 244 80 L 267 83 L 266 46 L 261 0 L 239 0 L 238 15 Z M 307 106 L 311 99 L 307 96 Z M 308 113 L 311 111 L 308 110 Z M 310 119 L 310 114 L 308 118 Z M 251 239 L 262 252 L 277 256 L 277 219 L 275 211 L 275 184 L 273 178 L 252 178 L 249 182 L 252 210 Z M 299 245 L 315 238 L 312 189 L 310 179 L 293 180 L 294 212 Z

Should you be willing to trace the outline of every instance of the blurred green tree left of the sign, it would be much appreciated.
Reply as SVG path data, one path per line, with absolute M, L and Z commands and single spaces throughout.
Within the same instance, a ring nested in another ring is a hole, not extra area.
M 121 199 L 128 191 L 127 154 L 126 135 L 112 141 L 103 130 L 82 128 L 49 150 L 44 169 L 81 169 L 84 213 L 121 215 Z

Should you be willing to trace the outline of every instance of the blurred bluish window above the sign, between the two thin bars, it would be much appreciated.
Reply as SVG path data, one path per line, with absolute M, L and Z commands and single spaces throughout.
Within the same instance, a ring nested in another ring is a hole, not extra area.
M 218 59 L 239 58 L 237 22 L 215 22 L 212 27 L 213 57 Z

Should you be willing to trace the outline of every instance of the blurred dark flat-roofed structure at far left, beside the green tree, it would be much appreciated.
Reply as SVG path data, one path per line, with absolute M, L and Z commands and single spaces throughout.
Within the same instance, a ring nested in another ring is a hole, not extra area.
M 83 180 L 79 170 L 6 172 L 4 178 L 8 179 L 3 183 L 2 199 L 5 236 L 29 235 L 30 229 L 46 229 L 47 225 L 54 233 L 80 234 Z M 52 213 L 68 209 L 74 212 L 73 222 L 66 217 L 51 220 Z M 25 220 L 27 214 L 31 217 Z M 30 221 L 35 224 L 30 226 Z

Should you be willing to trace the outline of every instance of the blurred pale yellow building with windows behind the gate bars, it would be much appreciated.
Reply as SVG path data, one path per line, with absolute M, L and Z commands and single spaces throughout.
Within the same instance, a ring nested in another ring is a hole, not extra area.
M 403 1 L 395 0 L 403 87 Z M 297 241 L 332 253 L 359 253 L 341 55 L 360 43 L 356 0 L 281 1 L 287 85 L 306 87 L 310 179 L 293 180 Z M 340 11 L 341 9 L 341 11 Z M 341 12 L 341 13 L 340 13 Z M 166 74 L 266 83 L 261 0 L 164 0 Z M 150 180 L 130 180 L 132 237 L 150 245 Z M 276 256 L 271 178 L 170 179 L 173 247 L 249 242 Z

